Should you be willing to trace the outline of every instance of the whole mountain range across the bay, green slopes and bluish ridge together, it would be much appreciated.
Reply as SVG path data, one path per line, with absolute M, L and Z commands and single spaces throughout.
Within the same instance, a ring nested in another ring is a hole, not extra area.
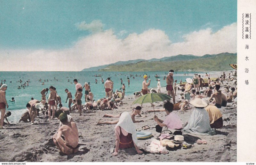
M 224 71 L 231 70 L 229 64 L 237 63 L 237 53 L 205 54 L 204 56 L 176 55 L 161 59 L 135 59 L 113 64 L 91 67 L 82 71 Z

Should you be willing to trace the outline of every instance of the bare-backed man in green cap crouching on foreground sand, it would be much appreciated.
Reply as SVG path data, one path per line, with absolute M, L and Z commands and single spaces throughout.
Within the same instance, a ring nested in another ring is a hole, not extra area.
M 68 115 L 61 113 L 59 115 L 62 126 L 58 132 L 53 135 L 53 142 L 60 150 L 60 153 L 71 154 L 78 152 L 78 130 L 75 122 L 68 122 Z M 63 135 L 64 139 L 61 137 Z

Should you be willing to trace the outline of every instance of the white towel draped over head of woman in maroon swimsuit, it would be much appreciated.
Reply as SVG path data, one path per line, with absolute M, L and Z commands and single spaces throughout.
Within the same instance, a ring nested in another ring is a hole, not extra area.
M 138 146 L 135 124 L 132 122 L 132 116 L 129 112 L 123 112 L 120 115 L 119 122 L 116 124 L 115 129 L 118 126 L 123 128 L 126 132 L 131 133 L 132 141 Z

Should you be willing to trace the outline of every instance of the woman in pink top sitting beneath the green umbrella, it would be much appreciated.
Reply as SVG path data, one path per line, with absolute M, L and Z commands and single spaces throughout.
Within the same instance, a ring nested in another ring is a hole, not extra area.
M 173 104 L 170 100 L 164 100 L 163 105 L 165 112 L 167 114 L 165 120 L 158 119 L 157 116 L 154 116 L 156 121 L 156 132 L 163 132 L 164 130 L 169 130 L 168 133 L 173 135 L 182 135 L 182 123 L 180 117 L 177 114 L 172 113 Z

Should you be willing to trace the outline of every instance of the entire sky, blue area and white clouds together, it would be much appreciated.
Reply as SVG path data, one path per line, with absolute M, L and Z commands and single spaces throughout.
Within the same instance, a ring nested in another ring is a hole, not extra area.
M 0 0 L 0 13 L 0 71 L 236 53 L 236 0 Z

